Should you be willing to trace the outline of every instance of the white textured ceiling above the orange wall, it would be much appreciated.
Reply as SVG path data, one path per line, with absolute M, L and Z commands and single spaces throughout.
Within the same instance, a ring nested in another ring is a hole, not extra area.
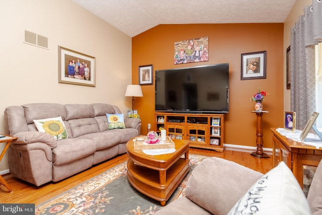
M 296 0 L 72 0 L 134 37 L 159 24 L 283 23 Z

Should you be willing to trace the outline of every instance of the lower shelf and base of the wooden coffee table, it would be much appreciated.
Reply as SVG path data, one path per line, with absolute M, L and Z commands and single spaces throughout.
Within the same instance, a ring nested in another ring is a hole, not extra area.
M 166 171 L 166 183 L 160 185 L 160 171 Z M 189 171 L 189 159 L 180 158 L 168 170 L 153 170 L 135 164 L 131 159 L 127 162 L 127 178 L 131 185 L 139 192 L 160 201 L 162 206 L 178 187 Z

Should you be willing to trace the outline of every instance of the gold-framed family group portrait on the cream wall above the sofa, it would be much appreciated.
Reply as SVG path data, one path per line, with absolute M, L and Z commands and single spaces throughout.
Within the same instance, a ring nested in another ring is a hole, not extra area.
M 95 59 L 58 46 L 58 83 L 95 87 Z

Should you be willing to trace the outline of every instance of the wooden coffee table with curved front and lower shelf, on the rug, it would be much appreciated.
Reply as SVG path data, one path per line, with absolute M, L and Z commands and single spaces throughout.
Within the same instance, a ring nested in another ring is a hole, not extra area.
M 127 178 L 131 185 L 144 195 L 166 201 L 189 171 L 189 141 L 173 139 L 176 152 L 165 155 L 146 155 L 134 150 L 134 141 L 127 142 Z M 181 158 L 181 156 L 184 158 Z

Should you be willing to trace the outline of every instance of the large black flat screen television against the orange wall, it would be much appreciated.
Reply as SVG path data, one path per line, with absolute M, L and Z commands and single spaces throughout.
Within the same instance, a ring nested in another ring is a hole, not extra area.
M 155 71 L 155 111 L 228 113 L 229 63 Z

